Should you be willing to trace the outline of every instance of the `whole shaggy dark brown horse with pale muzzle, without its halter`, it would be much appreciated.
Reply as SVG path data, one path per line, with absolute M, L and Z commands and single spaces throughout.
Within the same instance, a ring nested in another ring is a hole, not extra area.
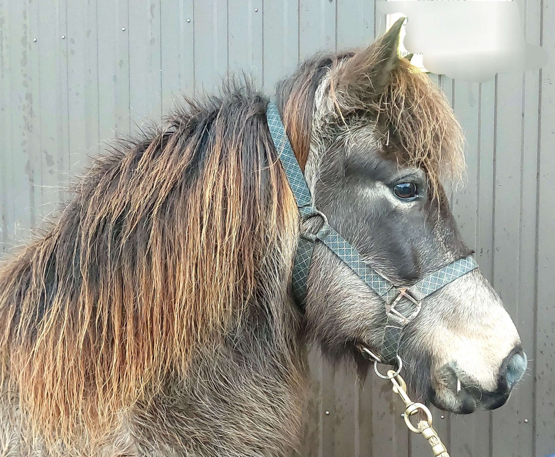
M 472 254 L 447 189 L 463 135 L 400 23 L 322 53 L 273 97 L 311 198 L 365 262 L 409 287 Z M 291 456 L 310 345 L 361 381 L 384 304 L 316 243 L 248 78 L 187 99 L 95 158 L 72 197 L 0 273 L 3 456 Z M 478 269 L 421 300 L 398 355 L 411 395 L 458 414 L 503 405 L 526 354 Z M 458 386 L 457 386 L 458 385 Z

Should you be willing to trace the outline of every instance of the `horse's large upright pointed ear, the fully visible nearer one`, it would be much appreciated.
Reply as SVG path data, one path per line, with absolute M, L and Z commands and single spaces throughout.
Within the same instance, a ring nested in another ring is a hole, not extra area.
M 398 19 L 382 37 L 356 51 L 332 74 L 340 108 L 364 107 L 384 92 L 390 82 L 390 73 L 399 61 L 399 34 L 403 22 L 404 17 Z M 357 102 L 360 106 L 356 106 Z M 355 106 L 350 106 L 352 104 Z

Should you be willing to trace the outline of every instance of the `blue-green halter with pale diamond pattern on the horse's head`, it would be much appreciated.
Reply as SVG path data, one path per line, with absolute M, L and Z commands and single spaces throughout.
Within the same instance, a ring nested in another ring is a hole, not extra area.
M 398 358 L 402 330 L 420 312 L 422 300 L 453 280 L 477 268 L 478 265 L 472 257 L 463 257 L 426 276 L 411 287 L 396 287 L 390 280 L 376 272 L 371 265 L 362 260 L 355 247 L 341 237 L 334 228 L 330 227 L 326 215 L 321 213 L 312 203 L 310 190 L 306 185 L 304 175 L 285 133 L 275 102 L 268 104 L 266 117 L 276 151 L 291 190 L 295 195 L 302 222 L 312 218 L 321 219 L 320 229 L 316 234 L 302 233 L 299 238 L 291 283 L 297 304 L 301 309 L 304 306 L 306 283 L 314 246 L 317 242 L 324 243 L 384 302 L 387 323 L 379 355 L 367 348 L 363 350 L 378 363 L 395 364 Z

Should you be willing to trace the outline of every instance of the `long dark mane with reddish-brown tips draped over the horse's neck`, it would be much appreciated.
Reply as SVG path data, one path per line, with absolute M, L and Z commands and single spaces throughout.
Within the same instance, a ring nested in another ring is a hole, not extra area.
M 99 439 L 290 268 L 298 216 L 266 100 L 230 86 L 97 159 L 0 273 L 2 378 L 47 436 Z

